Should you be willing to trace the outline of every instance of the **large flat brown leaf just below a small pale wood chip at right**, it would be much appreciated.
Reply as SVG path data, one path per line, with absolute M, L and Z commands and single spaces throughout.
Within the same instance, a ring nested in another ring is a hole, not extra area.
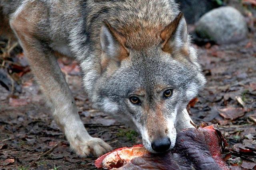
M 243 108 L 235 108 L 235 107 L 226 107 L 224 109 L 218 109 L 220 116 L 225 119 L 235 120 L 238 117 L 242 117 L 244 115 L 245 110 Z

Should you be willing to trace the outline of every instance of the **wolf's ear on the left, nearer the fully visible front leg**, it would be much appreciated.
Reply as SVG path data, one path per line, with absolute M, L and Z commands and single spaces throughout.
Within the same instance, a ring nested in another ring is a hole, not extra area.
M 116 31 L 105 21 L 100 31 L 100 44 L 102 49 L 101 66 L 104 70 L 109 64 L 120 65 L 123 59 L 129 55 L 126 37 Z

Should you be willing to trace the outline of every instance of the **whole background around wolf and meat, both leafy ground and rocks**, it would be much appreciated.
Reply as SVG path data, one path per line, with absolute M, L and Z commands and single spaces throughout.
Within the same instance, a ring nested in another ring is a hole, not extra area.
M 231 169 L 256 169 L 256 0 L 177 2 L 208 80 L 187 109 L 197 125 L 218 123 Z M 142 143 L 134 130 L 91 108 L 76 61 L 58 63 L 90 135 L 114 148 Z M 68 149 L 21 47 L 0 36 L 0 169 L 94 169 L 94 159 Z

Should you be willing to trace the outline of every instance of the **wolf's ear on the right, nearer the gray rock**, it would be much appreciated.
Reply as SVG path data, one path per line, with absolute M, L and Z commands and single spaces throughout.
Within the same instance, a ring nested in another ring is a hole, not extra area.
M 187 24 L 182 12 L 162 30 L 160 37 L 163 51 L 167 53 L 173 53 L 176 50 L 188 51 Z

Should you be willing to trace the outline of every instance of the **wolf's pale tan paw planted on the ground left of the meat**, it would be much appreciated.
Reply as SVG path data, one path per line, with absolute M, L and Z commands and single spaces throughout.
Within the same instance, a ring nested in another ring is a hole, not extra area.
M 76 144 L 73 143 L 73 145 L 70 143 L 70 147 L 76 152 L 76 154 L 85 157 L 101 156 L 102 154 L 112 150 L 112 147 L 110 147 L 110 145 L 105 143 L 100 138 L 91 138 L 88 141 L 83 141 Z

